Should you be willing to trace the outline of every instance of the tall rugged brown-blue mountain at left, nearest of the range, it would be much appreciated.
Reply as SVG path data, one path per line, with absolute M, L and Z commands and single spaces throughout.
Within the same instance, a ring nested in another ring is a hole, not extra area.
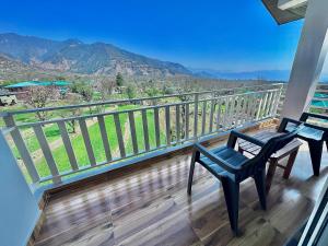
M 14 33 L 0 34 L 0 54 L 33 69 L 78 74 L 140 77 L 191 75 L 179 63 L 137 55 L 110 44 L 62 42 Z M 1 79 L 1 78 L 0 78 Z

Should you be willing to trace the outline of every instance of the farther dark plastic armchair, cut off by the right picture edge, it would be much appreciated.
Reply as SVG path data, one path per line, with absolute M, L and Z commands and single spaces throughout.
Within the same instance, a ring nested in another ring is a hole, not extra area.
M 304 124 L 305 127 L 297 133 L 297 138 L 307 142 L 312 160 L 313 173 L 315 176 L 319 176 L 325 141 L 328 150 L 328 128 L 308 124 L 306 122 L 308 118 L 328 120 L 328 117 L 324 115 L 303 113 L 300 120 L 283 118 L 278 131 L 293 131 L 298 125 Z

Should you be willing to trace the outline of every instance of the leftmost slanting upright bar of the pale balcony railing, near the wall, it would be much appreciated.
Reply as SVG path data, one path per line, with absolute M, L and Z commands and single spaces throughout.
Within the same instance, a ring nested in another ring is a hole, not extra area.
M 36 171 L 32 156 L 27 150 L 27 147 L 22 138 L 22 134 L 17 127 L 15 127 L 15 121 L 11 115 L 3 117 L 4 124 L 7 127 L 14 127 L 14 130 L 11 132 L 12 140 L 17 148 L 20 155 L 25 164 L 28 175 L 32 178 L 33 184 L 39 181 L 39 175 Z

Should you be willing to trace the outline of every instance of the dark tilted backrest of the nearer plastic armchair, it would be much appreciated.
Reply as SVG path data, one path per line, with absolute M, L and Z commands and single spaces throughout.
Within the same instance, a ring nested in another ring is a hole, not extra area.
M 277 151 L 284 148 L 288 143 L 290 143 L 296 137 L 297 132 L 302 128 L 303 126 L 301 125 L 300 127 L 297 127 L 295 130 L 291 132 L 282 133 L 281 136 L 271 138 L 262 147 L 261 151 L 256 156 L 254 156 L 253 159 L 244 163 L 243 165 L 243 167 L 245 167 L 243 168 L 244 175 L 249 176 L 253 175 L 255 172 L 265 168 L 269 157 Z M 244 178 L 246 178 L 246 176 L 244 176 Z

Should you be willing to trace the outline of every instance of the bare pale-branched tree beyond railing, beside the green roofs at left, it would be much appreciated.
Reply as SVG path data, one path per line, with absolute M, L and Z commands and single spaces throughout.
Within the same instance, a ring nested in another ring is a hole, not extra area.
M 57 99 L 59 92 L 56 86 L 31 86 L 25 94 L 26 104 L 34 108 L 44 108 L 51 99 Z M 47 112 L 36 112 L 40 121 L 47 117 Z

